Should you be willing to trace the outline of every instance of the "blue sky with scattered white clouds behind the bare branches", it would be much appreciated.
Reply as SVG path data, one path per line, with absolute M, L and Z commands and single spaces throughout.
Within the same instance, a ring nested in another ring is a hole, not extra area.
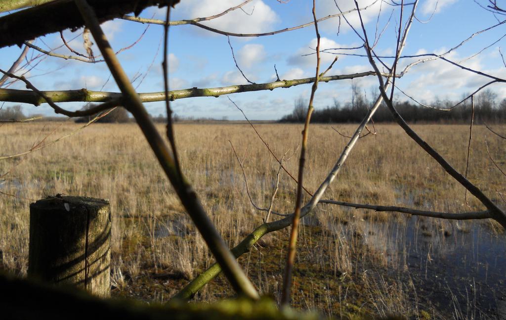
M 172 11 L 172 20 L 214 15 L 241 2 L 241 0 L 219 2 L 181 0 L 181 4 Z M 487 3 L 486 0 L 478 2 Z M 338 4 L 343 11 L 351 9 L 353 6 L 353 2 L 349 0 L 338 0 Z M 376 21 L 379 28 L 382 29 L 393 12 L 392 19 L 376 47 L 378 54 L 392 55 L 395 50 L 395 30 L 399 23 L 399 8 L 389 6 L 380 0 L 377 2 L 363 0 L 359 1 L 359 4 L 361 7 L 372 4 L 362 12 L 370 37 L 374 36 Z M 316 7 L 318 17 L 338 13 L 333 0 L 318 0 Z M 243 7 L 244 11 L 235 10 L 223 17 L 205 22 L 205 24 L 231 32 L 267 32 L 311 21 L 311 8 L 312 2 L 309 0 L 290 0 L 285 4 L 276 0 L 254 0 Z M 410 8 L 408 7 L 409 10 Z M 429 20 L 433 12 L 434 15 Z M 154 16 L 154 18 L 162 19 L 164 14 L 165 9 L 150 8 L 145 10 L 141 17 L 151 18 Z M 378 14 L 379 19 L 377 19 Z M 406 16 L 407 12 L 405 12 Z M 470 0 L 439 0 L 439 2 L 421 0 L 416 16 L 420 21 L 429 21 L 426 23 L 415 21 L 413 23 L 404 54 L 445 52 L 458 45 L 472 33 L 496 24 L 497 19 L 506 18 L 504 16 L 494 17 L 492 13 L 483 10 Z M 352 24 L 358 27 L 357 15 L 353 13 L 348 17 Z M 340 33 L 337 34 L 338 25 L 338 19 L 329 19 L 319 24 L 322 36 L 321 49 L 356 47 L 362 44 L 360 38 L 350 30 L 344 20 L 341 23 Z M 102 26 L 115 50 L 131 45 L 146 28 L 146 25 L 119 19 L 106 22 Z M 79 31 L 81 30 L 72 33 L 65 30 L 64 35 L 67 41 L 77 35 Z M 506 24 L 480 33 L 446 57 L 457 62 L 466 59 L 493 44 L 505 33 Z M 151 25 L 136 46 L 118 55 L 129 76 L 132 79 L 137 77 L 134 86 L 139 86 L 138 92 L 163 90 L 160 65 L 163 52 L 160 45 L 162 35 L 162 26 Z M 313 26 L 266 37 L 231 37 L 230 41 L 239 66 L 251 81 L 257 83 L 273 81 L 276 78 L 274 64 L 276 64 L 281 79 L 314 76 L 316 56 L 302 56 L 314 52 L 316 36 Z M 505 41 L 506 39 L 501 39 L 481 54 L 462 62 L 462 64 L 506 77 L 506 68 L 499 55 L 500 47 L 505 47 L 503 53 L 506 53 Z M 50 34 L 37 39 L 34 44 L 48 50 L 61 46 L 62 42 L 59 34 Z M 77 51 L 85 52 L 81 36 L 71 41 L 70 45 Z M 54 51 L 65 55 L 71 54 L 65 47 Z M 93 51 L 95 54 L 99 53 L 96 47 Z M 0 67 L 7 70 L 20 52 L 21 49 L 18 47 L 0 50 Z M 363 49 L 347 52 L 364 53 Z M 191 25 L 172 26 L 170 29 L 170 53 L 169 76 L 172 90 L 246 83 L 235 67 L 226 36 L 217 35 Z M 34 54 L 36 55 L 36 53 Z M 32 53 L 30 52 L 28 56 L 32 56 Z M 325 69 L 333 57 L 332 54 L 322 54 L 321 68 Z M 387 61 L 389 60 L 387 59 Z M 412 61 L 412 59 L 403 60 L 401 66 Z M 340 56 L 328 74 L 368 70 L 371 70 L 371 67 L 366 58 Z M 25 71 L 26 69 L 18 70 L 17 74 Z M 90 64 L 76 60 L 46 57 L 26 76 L 40 90 L 80 88 L 100 90 L 104 86 L 104 91 L 118 91 L 112 78 L 107 82 L 109 74 L 104 63 Z M 142 83 L 141 79 L 143 79 Z M 369 99 L 374 92 L 377 92 L 378 85 L 375 77 L 360 78 L 355 81 Z M 403 78 L 398 79 L 397 84 L 417 100 L 430 102 L 434 99 L 459 99 L 486 82 L 488 82 L 487 78 L 436 60 L 411 68 Z M 13 84 L 9 88 L 24 89 L 24 86 Z M 278 119 L 291 112 L 295 100 L 300 97 L 308 99 L 310 88 L 311 85 L 302 85 L 290 89 L 233 94 L 230 95 L 230 98 L 243 108 L 251 119 Z M 350 100 L 350 88 L 350 80 L 320 84 L 315 97 L 315 108 L 332 105 L 334 100 L 341 103 Z M 496 92 L 499 99 L 506 98 L 506 86 L 496 85 L 491 89 Z M 399 94 L 397 99 L 406 100 L 407 98 Z M 5 106 L 10 105 L 12 104 L 5 104 Z M 81 108 L 83 103 L 65 103 L 61 106 L 73 110 Z M 164 105 L 161 102 L 146 103 L 145 106 L 153 115 L 164 113 Z M 173 108 L 177 114 L 182 116 L 242 119 L 242 114 L 226 96 L 181 99 L 173 103 Z M 45 104 L 38 107 L 24 105 L 23 110 L 26 114 L 53 114 L 52 109 Z

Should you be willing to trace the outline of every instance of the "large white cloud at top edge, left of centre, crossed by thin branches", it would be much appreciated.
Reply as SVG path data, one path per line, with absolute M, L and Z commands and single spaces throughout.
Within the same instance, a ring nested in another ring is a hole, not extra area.
M 193 19 L 222 13 L 240 3 L 241 1 L 237 0 L 186 0 L 176 6 L 174 11 L 188 19 Z M 255 33 L 270 31 L 273 25 L 279 21 L 278 15 L 262 0 L 252 1 L 242 9 L 247 14 L 237 9 L 219 18 L 201 23 L 223 31 Z

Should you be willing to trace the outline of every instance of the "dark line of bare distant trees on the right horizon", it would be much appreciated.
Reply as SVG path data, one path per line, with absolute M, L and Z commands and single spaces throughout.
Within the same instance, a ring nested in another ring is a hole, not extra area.
M 474 119 L 478 123 L 506 122 L 506 99 L 498 102 L 496 95 L 485 91 L 474 99 Z M 462 102 L 449 111 L 458 101 L 434 101 L 421 106 L 411 101 L 398 102 L 395 108 L 399 114 L 410 123 L 469 123 L 471 121 L 471 99 Z M 431 106 L 432 108 L 427 107 Z M 280 122 L 304 122 L 307 113 L 307 102 L 299 99 L 295 103 L 292 113 L 283 116 Z M 356 96 L 344 106 L 334 101 L 333 106 L 315 108 L 311 116 L 312 123 L 358 123 L 361 122 L 372 106 L 363 96 Z M 437 109 L 436 109 L 437 108 Z M 393 122 L 394 118 L 385 104 L 382 104 L 373 116 L 374 122 Z

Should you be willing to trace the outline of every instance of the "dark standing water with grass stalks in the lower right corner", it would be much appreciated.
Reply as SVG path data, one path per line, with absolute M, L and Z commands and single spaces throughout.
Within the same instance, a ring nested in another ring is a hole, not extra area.
M 419 300 L 455 318 L 506 319 L 506 234 L 477 221 L 431 221 L 366 221 L 363 239 L 411 277 Z

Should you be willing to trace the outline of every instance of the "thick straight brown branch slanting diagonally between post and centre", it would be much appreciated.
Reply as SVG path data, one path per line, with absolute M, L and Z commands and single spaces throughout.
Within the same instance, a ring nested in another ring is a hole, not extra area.
M 191 217 L 193 223 L 204 238 L 204 241 L 216 258 L 216 261 L 223 267 L 224 273 L 232 285 L 233 289 L 239 294 L 250 299 L 258 299 L 259 295 L 255 287 L 251 284 L 244 271 L 234 259 L 229 248 L 223 241 L 220 233 L 216 230 L 213 222 L 207 216 L 202 207 L 197 194 L 192 189 L 190 183 L 186 181 L 183 173 L 178 170 L 175 162 L 174 153 L 167 148 L 163 138 L 156 130 L 151 118 L 144 108 L 139 95 L 130 83 L 130 79 L 125 74 L 114 51 L 112 50 L 105 34 L 103 33 L 100 22 L 86 0 L 75 0 L 79 12 L 104 56 L 104 60 L 111 71 L 119 89 L 124 95 L 124 106 L 128 109 L 137 121 L 144 136 L 148 140 L 151 149 L 155 153 L 160 166 L 164 170 L 167 178 L 174 186 L 181 203 Z

